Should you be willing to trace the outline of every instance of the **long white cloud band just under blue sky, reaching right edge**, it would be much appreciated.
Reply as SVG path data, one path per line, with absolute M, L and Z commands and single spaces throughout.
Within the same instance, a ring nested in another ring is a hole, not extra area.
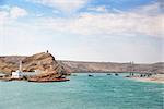
M 36 25 L 59 33 L 73 33 L 87 36 L 143 35 L 163 37 L 163 14 L 150 16 L 137 13 L 83 13 L 73 19 L 39 19 Z M 38 27 L 38 28 L 39 28 Z

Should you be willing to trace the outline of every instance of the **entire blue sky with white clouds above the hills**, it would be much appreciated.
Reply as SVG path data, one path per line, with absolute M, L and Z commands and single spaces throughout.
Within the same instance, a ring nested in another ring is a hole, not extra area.
M 0 56 L 164 62 L 162 0 L 0 0 Z

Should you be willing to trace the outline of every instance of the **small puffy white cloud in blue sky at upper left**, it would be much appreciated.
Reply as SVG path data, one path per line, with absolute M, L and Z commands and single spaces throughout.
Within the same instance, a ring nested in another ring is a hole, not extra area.
M 17 19 L 17 17 L 22 17 L 22 16 L 26 16 L 27 12 L 26 10 L 19 8 L 19 7 L 12 7 L 10 9 L 10 16 L 12 19 Z

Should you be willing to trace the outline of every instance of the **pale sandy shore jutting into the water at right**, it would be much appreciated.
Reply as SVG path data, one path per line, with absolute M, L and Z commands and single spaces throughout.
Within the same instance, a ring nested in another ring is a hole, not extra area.
M 129 78 L 132 78 L 132 80 L 139 81 L 139 82 L 153 82 L 153 83 L 163 83 L 164 84 L 164 74 L 157 74 L 157 75 L 153 75 L 151 77 L 132 76 Z

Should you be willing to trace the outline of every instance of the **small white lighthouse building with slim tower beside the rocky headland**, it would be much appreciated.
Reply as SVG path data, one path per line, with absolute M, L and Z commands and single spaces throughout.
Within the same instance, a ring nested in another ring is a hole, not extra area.
M 16 72 L 12 72 L 12 78 L 21 78 L 21 77 L 23 77 L 23 74 L 22 74 L 22 61 L 20 61 L 19 70 Z

